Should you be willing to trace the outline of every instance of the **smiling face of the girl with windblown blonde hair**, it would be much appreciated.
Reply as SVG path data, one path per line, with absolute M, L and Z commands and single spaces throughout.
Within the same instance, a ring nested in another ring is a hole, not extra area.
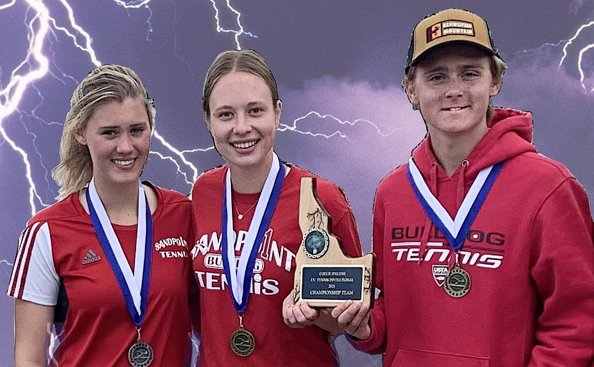
M 150 132 L 144 101 L 127 98 L 95 108 L 75 139 L 89 148 L 98 184 L 136 184 L 149 158 Z

